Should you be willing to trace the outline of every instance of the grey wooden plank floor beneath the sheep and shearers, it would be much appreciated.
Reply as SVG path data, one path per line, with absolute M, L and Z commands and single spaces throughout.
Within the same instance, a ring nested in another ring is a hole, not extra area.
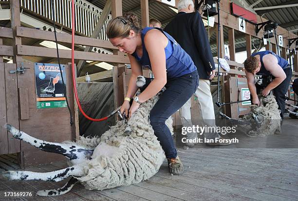
M 164 163 L 146 182 L 104 191 L 76 184 L 66 195 L 36 196 L 37 190 L 61 187 L 60 183 L 7 181 L 0 176 L 0 201 L 293 201 L 298 200 L 298 149 L 179 149 L 185 172 L 168 173 Z M 65 162 L 26 170 L 47 172 L 66 167 Z M 32 192 L 33 197 L 5 198 L 4 192 Z

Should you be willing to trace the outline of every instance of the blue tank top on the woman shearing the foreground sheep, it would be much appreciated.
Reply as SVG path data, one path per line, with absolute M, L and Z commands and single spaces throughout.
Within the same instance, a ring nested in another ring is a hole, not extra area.
M 192 73 L 197 70 L 190 56 L 182 49 L 182 47 L 174 40 L 174 38 L 168 33 L 164 32 L 162 29 L 156 27 L 145 27 L 141 31 L 143 55 L 141 58 L 139 58 L 136 52 L 132 54 L 132 56 L 134 56 L 139 62 L 140 66 L 152 70 L 149 55 L 144 43 L 145 35 L 151 29 L 157 29 L 161 31 L 168 38 L 168 45 L 165 48 L 167 78 L 181 77 L 182 75 Z

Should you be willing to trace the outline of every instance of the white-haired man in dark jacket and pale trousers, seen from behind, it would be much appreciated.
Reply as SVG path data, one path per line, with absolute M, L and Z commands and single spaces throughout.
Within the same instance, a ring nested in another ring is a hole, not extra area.
M 215 65 L 209 40 L 205 31 L 203 20 L 198 12 L 194 11 L 192 0 L 179 0 L 178 14 L 165 27 L 164 31 L 170 34 L 192 58 L 197 67 L 200 81 L 195 96 L 199 100 L 202 116 L 205 124 L 201 126 L 215 125 L 215 115 L 213 108 L 213 99 L 210 91 L 210 80 L 215 75 Z M 192 127 L 191 123 L 191 99 L 180 109 L 180 118 L 183 127 Z M 202 133 L 200 133 L 202 134 Z M 219 137 L 218 133 L 208 133 L 205 137 L 212 139 Z M 197 133 L 187 133 L 186 139 L 197 138 Z M 188 147 L 194 146 L 193 143 L 186 143 Z M 228 145 L 224 143 L 209 143 L 207 145 Z

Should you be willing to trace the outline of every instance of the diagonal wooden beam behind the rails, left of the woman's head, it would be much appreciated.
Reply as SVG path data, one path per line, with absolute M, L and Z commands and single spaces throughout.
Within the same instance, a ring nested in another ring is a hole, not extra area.
M 110 15 L 112 9 L 112 0 L 107 0 L 105 7 L 102 11 L 102 14 L 100 15 L 98 22 L 96 23 L 96 26 L 94 27 L 94 30 L 92 32 L 91 38 L 97 38 L 100 34 L 100 31 L 105 24 L 108 16 Z M 87 46 L 84 50 L 84 52 L 91 52 L 93 46 Z M 86 60 L 80 60 L 76 66 L 77 74 L 80 75 L 80 73 L 83 70 L 83 66 L 85 65 Z

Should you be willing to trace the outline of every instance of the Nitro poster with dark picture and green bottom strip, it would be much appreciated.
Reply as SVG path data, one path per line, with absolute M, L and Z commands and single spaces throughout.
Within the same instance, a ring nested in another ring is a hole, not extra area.
M 65 65 L 60 65 L 66 87 Z M 37 109 L 67 107 L 58 64 L 35 63 Z

